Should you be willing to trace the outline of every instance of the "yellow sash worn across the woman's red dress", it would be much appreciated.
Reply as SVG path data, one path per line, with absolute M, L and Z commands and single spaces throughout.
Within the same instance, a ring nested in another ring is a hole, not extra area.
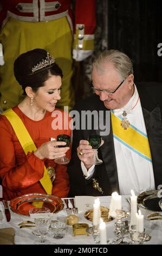
M 18 117 L 18 115 L 11 108 L 9 108 L 7 111 L 4 111 L 2 114 L 5 115 L 5 117 L 7 117 L 10 124 L 12 125 L 18 138 L 18 141 L 21 143 L 25 154 L 27 155 L 28 152 L 35 151 L 37 148 L 20 117 Z M 46 193 L 51 194 L 53 185 L 48 175 L 46 166 L 44 166 L 44 175 L 43 178 L 40 179 L 40 182 Z

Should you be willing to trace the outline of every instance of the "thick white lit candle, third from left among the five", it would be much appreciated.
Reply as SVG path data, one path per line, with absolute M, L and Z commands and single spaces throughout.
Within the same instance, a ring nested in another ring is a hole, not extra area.
M 117 192 L 112 193 L 108 217 L 114 215 L 115 210 L 121 210 L 121 196 Z

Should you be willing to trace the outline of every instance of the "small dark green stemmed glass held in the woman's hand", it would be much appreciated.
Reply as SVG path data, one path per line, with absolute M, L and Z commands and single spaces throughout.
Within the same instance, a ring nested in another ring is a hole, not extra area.
M 58 148 L 69 147 L 70 137 L 66 134 L 60 134 L 60 135 L 57 136 L 57 141 L 67 143 L 66 145 L 58 146 Z M 55 159 L 54 161 L 55 161 L 55 163 L 59 163 L 59 164 L 67 164 L 67 163 L 69 163 L 70 160 L 66 156 L 62 156 L 62 157 L 59 157 L 59 158 Z

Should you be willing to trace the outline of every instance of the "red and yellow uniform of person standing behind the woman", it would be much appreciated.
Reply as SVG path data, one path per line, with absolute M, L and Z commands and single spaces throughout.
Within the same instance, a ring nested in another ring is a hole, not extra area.
M 73 58 L 78 61 L 93 52 L 95 0 L 76 0 L 74 20 L 70 0 L 0 0 L 0 3 L 0 42 L 4 52 L 4 65 L 0 60 L 2 108 L 12 107 L 21 100 L 22 90 L 11 68 L 18 55 L 33 48 L 44 48 L 54 55 L 64 75 L 59 107 L 73 107 L 72 48 Z M 0 58 L 1 55 L 0 47 Z

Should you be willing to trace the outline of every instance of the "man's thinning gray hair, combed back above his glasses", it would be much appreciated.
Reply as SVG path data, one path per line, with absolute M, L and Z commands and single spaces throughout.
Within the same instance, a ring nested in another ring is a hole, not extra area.
M 102 73 L 105 71 L 105 66 L 108 63 L 113 63 L 116 71 L 122 80 L 125 80 L 130 74 L 133 74 L 133 65 L 131 59 L 123 52 L 118 50 L 103 51 L 100 56 L 93 62 L 93 69 Z

